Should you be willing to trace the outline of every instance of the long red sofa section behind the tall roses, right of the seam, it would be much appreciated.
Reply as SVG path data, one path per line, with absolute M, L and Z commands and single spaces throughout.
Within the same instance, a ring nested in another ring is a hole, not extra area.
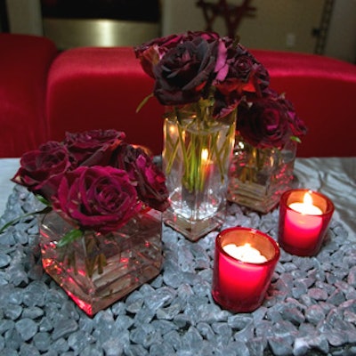
M 271 87 L 286 93 L 308 134 L 299 157 L 356 156 L 353 120 L 356 66 L 313 54 L 253 50 L 271 74 Z M 50 138 L 66 131 L 116 128 L 127 141 L 162 150 L 164 108 L 156 99 L 137 114 L 153 82 L 130 47 L 76 48 L 61 53 L 49 73 Z

